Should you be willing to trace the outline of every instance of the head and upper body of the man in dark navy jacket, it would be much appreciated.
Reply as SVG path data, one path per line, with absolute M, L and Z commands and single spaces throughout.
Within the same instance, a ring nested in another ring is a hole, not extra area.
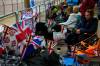
M 85 12 L 85 17 L 81 19 L 81 22 L 79 24 L 76 24 L 76 34 L 79 35 L 84 34 L 91 36 L 97 31 L 98 20 L 93 16 L 94 16 L 93 10 L 88 9 Z

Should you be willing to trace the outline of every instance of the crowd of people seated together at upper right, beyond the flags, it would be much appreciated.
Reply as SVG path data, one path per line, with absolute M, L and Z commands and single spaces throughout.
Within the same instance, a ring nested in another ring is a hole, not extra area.
M 64 26 L 64 29 L 60 29 L 60 31 L 66 31 L 63 33 L 64 37 L 58 37 L 58 39 L 64 39 L 65 43 L 68 44 L 69 50 L 71 50 L 71 46 L 89 38 L 97 32 L 100 7 L 99 0 L 81 0 L 77 5 L 68 5 L 68 3 L 65 5 L 65 3 L 61 3 L 59 7 L 58 9 L 53 6 L 51 11 L 56 11 L 51 12 L 51 17 L 48 19 L 56 22 L 56 27 L 57 25 L 60 27 Z M 55 30 L 58 29 L 56 28 Z

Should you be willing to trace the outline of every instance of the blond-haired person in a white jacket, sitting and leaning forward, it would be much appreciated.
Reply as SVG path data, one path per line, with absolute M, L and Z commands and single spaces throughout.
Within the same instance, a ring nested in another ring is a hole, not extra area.
M 76 23 L 80 20 L 80 12 L 78 6 L 73 7 L 73 13 L 70 14 L 68 20 L 64 23 L 60 23 L 61 25 L 67 25 L 69 29 L 75 27 Z

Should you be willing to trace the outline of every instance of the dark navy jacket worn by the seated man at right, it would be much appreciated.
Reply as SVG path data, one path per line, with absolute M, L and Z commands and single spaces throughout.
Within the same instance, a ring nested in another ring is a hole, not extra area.
M 98 20 L 93 18 L 90 22 L 87 22 L 85 18 L 82 18 L 79 24 L 76 24 L 76 29 L 80 29 L 81 33 L 94 34 L 97 31 Z

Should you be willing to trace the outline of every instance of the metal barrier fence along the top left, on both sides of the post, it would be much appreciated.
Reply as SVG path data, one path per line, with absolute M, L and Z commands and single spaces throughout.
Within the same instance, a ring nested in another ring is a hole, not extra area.
M 14 14 L 14 16 L 21 17 L 23 16 L 22 14 L 27 10 L 24 8 L 24 0 L 9 0 L 10 2 L 6 4 L 5 0 L 1 0 L 0 3 L 2 2 L 2 9 L 0 9 L 0 22 L 2 22 L 2 19 L 5 17 L 9 17 Z M 47 0 L 44 2 L 41 2 L 40 4 L 37 4 L 36 6 L 29 8 L 33 14 L 38 14 L 37 21 L 38 22 L 45 22 L 46 21 L 46 10 L 48 9 L 49 6 L 52 5 L 59 5 L 61 2 L 64 2 L 63 0 Z M 12 7 L 10 10 L 7 11 L 5 7 Z M 18 15 L 16 14 L 16 11 L 18 11 Z M 3 13 L 2 13 L 3 12 Z M 21 15 L 20 15 L 21 13 Z M 36 16 L 35 16 L 36 17 Z M 11 19 L 12 20 L 12 19 Z M 18 20 L 18 19 L 16 19 Z M 13 20 L 14 22 L 15 19 Z

